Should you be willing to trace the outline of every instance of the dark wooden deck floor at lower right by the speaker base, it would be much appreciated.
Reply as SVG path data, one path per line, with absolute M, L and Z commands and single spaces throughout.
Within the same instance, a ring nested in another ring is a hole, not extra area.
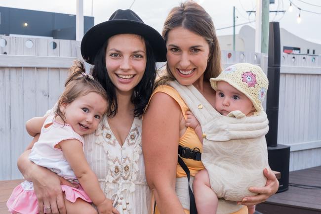
M 321 166 L 289 173 L 289 183 L 321 186 Z M 290 186 L 257 205 L 262 214 L 321 214 L 321 188 Z

